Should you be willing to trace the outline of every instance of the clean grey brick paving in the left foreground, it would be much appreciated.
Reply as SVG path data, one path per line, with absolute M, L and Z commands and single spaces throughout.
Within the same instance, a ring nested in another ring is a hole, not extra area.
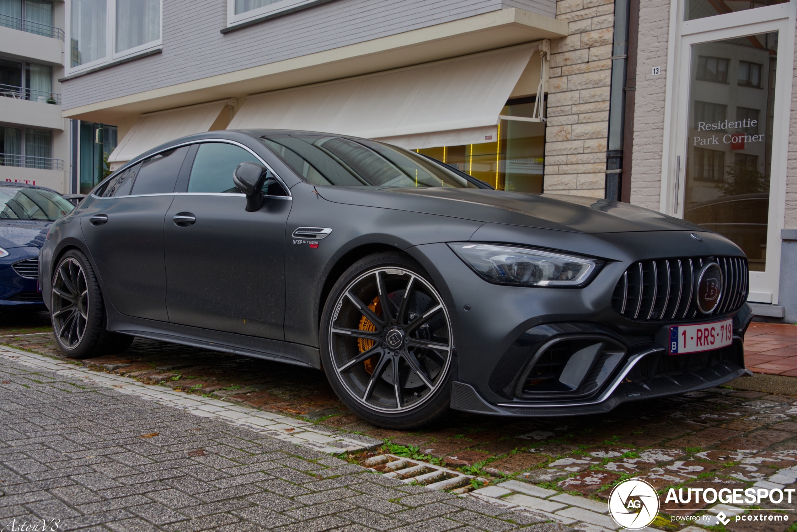
M 44 520 L 47 530 L 505 532 L 543 521 L 8 358 L 0 379 L 3 530 Z

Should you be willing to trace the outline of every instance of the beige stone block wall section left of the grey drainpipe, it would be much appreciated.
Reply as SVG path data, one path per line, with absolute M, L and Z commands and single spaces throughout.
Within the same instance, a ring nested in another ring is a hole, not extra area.
M 544 190 L 603 198 L 614 0 L 558 0 L 556 18 L 569 35 L 551 43 Z

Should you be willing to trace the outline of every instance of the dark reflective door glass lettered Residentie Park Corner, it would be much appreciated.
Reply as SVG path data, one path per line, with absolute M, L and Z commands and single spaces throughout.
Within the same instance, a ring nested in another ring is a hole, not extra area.
M 736 242 L 759 272 L 766 269 L 777 51 L 777 33 L 692 47 L 684 218 Z

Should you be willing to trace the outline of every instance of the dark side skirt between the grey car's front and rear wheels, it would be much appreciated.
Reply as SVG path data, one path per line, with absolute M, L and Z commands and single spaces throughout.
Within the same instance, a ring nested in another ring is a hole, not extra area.
M 164 323 L 153 319 L 134 318 L 120 314 L 110 306 L 106 308 L 108 331 L 321 369 L 321 355 L 316 347 L 245 334 L 211 331 L 177 323 Z

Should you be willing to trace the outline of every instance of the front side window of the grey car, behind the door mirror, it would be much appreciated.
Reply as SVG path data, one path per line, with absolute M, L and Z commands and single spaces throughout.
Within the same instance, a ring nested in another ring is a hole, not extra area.
M 257 162 L 257 158 L 249 151 L 232 144 L 201 144 L 188 179 L 188 192 L 238 194 L 233 182 L 233 172 L 244 161 Z

